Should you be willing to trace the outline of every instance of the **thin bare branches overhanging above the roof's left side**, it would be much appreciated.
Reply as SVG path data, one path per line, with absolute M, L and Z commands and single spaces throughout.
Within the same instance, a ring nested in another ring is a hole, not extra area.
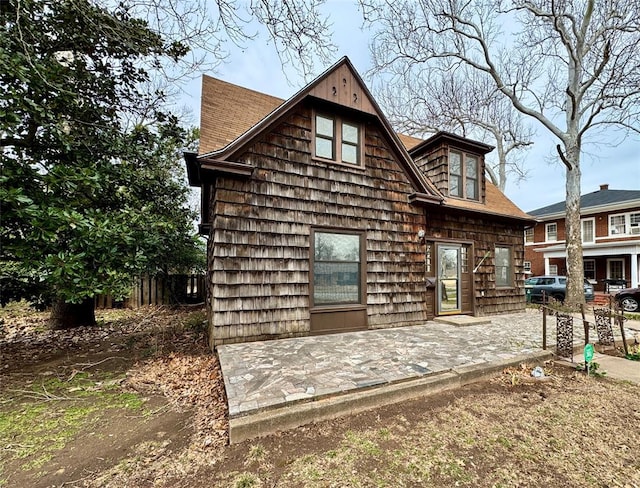
M 110 0 L 94 0 L 97 4 Z M 175 81 L 214 69 L 227 58 L 229 42 L 243 46 L 257 40 L 260 29 L 283 66 L 305 77 L 315 63 L 326 64 L 336 47 L 330 24 L 321 12 L 325 0 L 129 0 L 126 8 L 170 42 L 189 48 L 187 56 L 165 74 Z

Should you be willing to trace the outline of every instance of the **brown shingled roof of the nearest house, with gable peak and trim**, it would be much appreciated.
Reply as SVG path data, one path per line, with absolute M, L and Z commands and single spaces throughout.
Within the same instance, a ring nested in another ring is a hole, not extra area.
M 213 171 L 231 171 L 236 175 L 250 174 L 249 168 L 244 168 L 246 165 L 235 163 L 233 158 L 255 137 L 279 123 L 307 97 L 329 100 L 374 116 L 380 122 L 391 149 L 396 153 L 401 167 L 416 189 L 416 193 L 411 196 L 412 201 L 444 204 L 465 211 L 532 221 L 531 216 L 520 210 L 488 181 L 484 204 L 443 196 L 418 169 L 409 154 L 409 150 L 413 153 L 418 146 L 423 147 L 425 141 L 413 136 L 397 134 L 393 130 L 347 57 L 340 59 L 288 100 L 205 76 L 202 84 L 200 155 L 197 157 L 194 154 L 185 155 L 190 176 L 194 175 L 190 180 L 193 179 L 197 183 L 200 179 L 197 174 L 198 167 Z M 482 146 L 483 153 L 493 149 L 486 144 L 448 133 L 438 133 L 427 141 L 443 135 L 467 145 L 478 145 L 478 148 Z

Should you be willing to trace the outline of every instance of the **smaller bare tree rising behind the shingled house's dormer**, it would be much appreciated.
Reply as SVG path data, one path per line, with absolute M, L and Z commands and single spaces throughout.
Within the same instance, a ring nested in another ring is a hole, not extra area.
M 533 129 L 495 88 L 493 80 L 465 67 L 419 73 L 412 67 L 396 67 L 391 65 L 378 73 L 384 81 L 377 83 L 376 90 L 395 127 L 422 137 L 446 130 L 494 144 L 495 158 L 486 166 L 492 183 L 504 191 L 508 177 L 526 179 L 521 156 L 533 144 Z

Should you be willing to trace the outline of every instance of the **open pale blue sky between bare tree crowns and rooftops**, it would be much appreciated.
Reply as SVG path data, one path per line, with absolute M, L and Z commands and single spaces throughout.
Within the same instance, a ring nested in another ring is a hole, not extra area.
M 365 76 L 372 66 L 371 32 L 362 28 L 361 14 L 350 0 L 328 0 L 325 10 L 333 24 L 332 40 L 338 46 L 333 62 L 348 56 L 371 89 L 372 80 Z M 291 97 L 306 84 L 294 69 L 285 67 L 283 71 L 275 49 L 264 36 L 243 47 L 231 46 L 229 50 L 225 63 L 215 71 L 203 74 L 283 99 Z M 317 66 L 316 75 L 329 66 Z M 181 99 L 193 113 L 193 124 L 200 120 L 200 94 L 201 78 L 197 77 L 185 87 Z M 375 92 L 373 95 L 375 97 Z M 539 123 L 532 120 L 531 124 L 536 129 L 534 145 L 524 154 L 524 166 L 529 176 L 518 183 L 508 181 L 505 190 L 507 197 L 524 211 L 565 200 L 565 167 L 556 157 L 558 142 Z M 608 184 L 612 190 L 640 190 L 640 136 L 620 141 L 612 134 L 606 139 L 614 142 L 588 146 L 583 152 L 582 194 L 597 191 L 602 184 Z M 491 144 L 490 141 L 487 143 Z

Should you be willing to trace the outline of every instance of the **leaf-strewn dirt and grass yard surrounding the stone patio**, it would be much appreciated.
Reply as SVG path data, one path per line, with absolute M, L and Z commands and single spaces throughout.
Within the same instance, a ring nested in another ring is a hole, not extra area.
M 0 487 L 640 487 L 640 387 L 545 365 L 227 445 L 202 310 L 0 312 Z

